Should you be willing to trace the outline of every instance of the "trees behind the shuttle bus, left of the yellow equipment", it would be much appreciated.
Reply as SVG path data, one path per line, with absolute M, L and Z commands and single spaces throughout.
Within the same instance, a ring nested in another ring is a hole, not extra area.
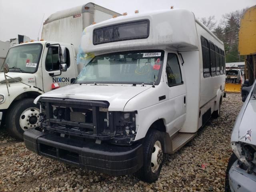
M 224 14 L 220 22 L 215 21 L 215 16 L 200 18 L 200 21 L 224 42 L 226 63 L 244 61 L 238 52 L 238 33 L 240 21 L 247 9 Z

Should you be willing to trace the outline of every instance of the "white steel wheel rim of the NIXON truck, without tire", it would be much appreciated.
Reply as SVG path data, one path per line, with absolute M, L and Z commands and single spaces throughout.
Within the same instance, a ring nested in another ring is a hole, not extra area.
M 38 126 L 40 110 L 35 107 L 28 108 L 20 115 L 20 127 L 26 131 Z

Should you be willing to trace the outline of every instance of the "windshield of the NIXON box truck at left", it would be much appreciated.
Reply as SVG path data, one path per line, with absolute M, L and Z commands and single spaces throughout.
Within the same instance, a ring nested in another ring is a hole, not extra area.
M 42 44 L 15 46 L 8 51 L 4 63 L 9 64 L 10 72 L 34 73 L 38 68 L 41 52 Z

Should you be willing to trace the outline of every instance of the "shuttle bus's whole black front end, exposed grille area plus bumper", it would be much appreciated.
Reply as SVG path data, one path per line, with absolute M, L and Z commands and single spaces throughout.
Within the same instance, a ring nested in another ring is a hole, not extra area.
M 142 141 L 134 141 L 136 111 L 108 111 L 106 101 L 43 97 L 39 102 L 40 127 L 24 132 L 28 150 L 116 176 L 142 167 Z

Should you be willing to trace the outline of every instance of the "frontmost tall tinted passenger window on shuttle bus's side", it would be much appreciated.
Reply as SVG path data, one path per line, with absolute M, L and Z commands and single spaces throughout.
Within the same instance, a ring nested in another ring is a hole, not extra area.
M 206 38 L 201 36 L 202 44 L 202 57 L 203 57 L 203 70 L 204 77 L 210 77 L 210 52 L 209 52 L 209 42 Z

